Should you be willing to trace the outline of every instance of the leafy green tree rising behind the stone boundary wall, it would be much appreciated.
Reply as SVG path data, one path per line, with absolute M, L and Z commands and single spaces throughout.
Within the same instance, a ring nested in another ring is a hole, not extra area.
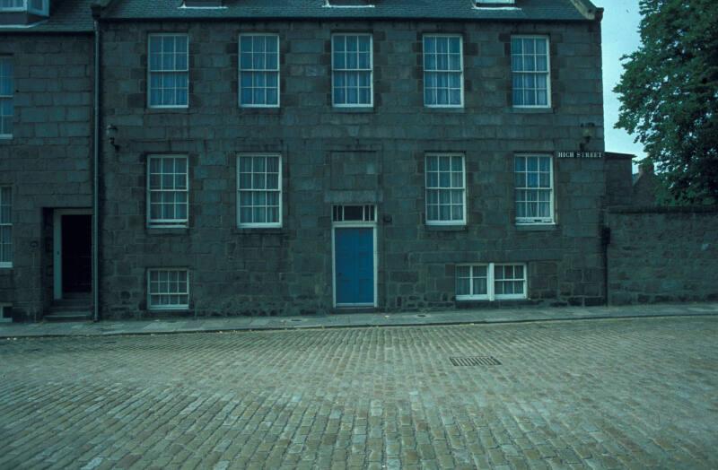
M 622 60 L 617 128 L 636 134 L 671 196 L 718 203 L 718 2 L 641 0 L 641 47 Z

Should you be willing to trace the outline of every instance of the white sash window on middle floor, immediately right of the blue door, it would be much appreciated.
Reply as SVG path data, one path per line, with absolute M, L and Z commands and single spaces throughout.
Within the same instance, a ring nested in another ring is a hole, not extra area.
M 457 154 L 426 155 L 426 223 L 466 223 L 466 171 Z

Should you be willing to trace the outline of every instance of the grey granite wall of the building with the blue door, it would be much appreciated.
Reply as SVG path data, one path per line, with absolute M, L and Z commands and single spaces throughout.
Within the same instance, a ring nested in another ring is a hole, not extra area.
M 530 300 L 603 301 L 600 207 L 606 161 L 554 160 L 556 225 L 513 221 L 515 153 L 576 150 L 582 122 L 597 124 L 603 151 L 600 25 L 592 22 L 164 22 L 108 23 L 103 34 L 106 124 L 120 149 L 103 156 L 101 315 L 147 315 L 146 270 L 187 267 L 190 312 L 284 315 L 332 309 L 332 204 L 376 204 L 380 309 L 454 308 L 454 266 L 521 262 Z M 237 39 L 281 40 L 281 109 L 239 109 Z M 373 109 L 332 109 L 330 37 L 372 31 Z M 188 32 L 189 109 L 146 108 L 150 32 Z M 423 104 L 421 38 L 464 39 L 465 108 Z M 550 36 L 553 109 L 512 109 L 510 40 Z M 189 226 L 148 229 L 146 158 L 187 154 Z M 236 226 L 236 155 L 279 152 L 283 227 Z M 461 152 L 468 224 L 425 224 L 426 152 Z M 368 177 L 357 165 L 371 162 Z M 354 163 L 357 165 L 355 165 Z M 346 171 L 348 180 L 337 178 Z M 465 304 L 464 304 L 465 305 Z

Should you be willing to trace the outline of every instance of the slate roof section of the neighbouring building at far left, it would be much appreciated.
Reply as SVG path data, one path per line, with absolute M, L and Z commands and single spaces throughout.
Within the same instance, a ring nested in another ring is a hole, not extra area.
M 47 20 L 22 27 L 0 25 L 0 33 L 90 32 L 93 30 L 92 3 L 93 0 L 52 0 Z

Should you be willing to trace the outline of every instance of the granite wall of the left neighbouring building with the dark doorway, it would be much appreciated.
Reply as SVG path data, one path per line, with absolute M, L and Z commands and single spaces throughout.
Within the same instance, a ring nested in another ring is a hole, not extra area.
M 0 33 L 0 55 L 13 57 L 15 86 L 13 138 L 0 139 L 0 186 L 13 187 L 0 302 L 38 319 L 52 289 L 48 208 L 92 205 L 92 36 Z

